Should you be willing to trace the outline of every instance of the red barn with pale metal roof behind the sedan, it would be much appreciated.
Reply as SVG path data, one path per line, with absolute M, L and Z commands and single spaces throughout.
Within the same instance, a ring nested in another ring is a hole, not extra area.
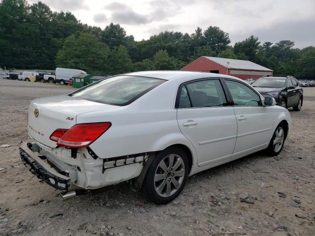
M 205 56 L 195 59 L 181 70 L 225 74 L 235 76 L 243 80 L 258 79 L 264 75 L 272 75 L 273 72 L 273 70 L 249 60 Z

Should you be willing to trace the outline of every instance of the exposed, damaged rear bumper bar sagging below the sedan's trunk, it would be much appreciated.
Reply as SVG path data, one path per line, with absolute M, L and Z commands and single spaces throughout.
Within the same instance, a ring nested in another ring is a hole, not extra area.
M 70 189 L 71 179 L 58 173 L 48 163 L 43 161 L 32 151 L 31 143 L 19 144 L 20 157 L 22 163 L 32 172 L 33 175 L 42 179 L 50 186 L 56 189 L 68 191 Z

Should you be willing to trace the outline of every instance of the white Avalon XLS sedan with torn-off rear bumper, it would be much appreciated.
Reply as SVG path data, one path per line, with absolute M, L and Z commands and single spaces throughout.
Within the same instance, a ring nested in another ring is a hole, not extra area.
M 33 100 L 32 142 L 20 143 L 20 156 L 32 174 L 63 190 L 63 198 L 128 181 L 166 204 L 188 176 L 263 149 L 278 155 L 291 118 L 274 105 L 227 75 L 117 75 Z

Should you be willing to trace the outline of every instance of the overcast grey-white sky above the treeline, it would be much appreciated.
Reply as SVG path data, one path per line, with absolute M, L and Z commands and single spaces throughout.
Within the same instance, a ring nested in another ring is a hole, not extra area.
M 102 29 L 119 23 L 135 40 L 164 30 L 191 34 L 198 26 L 218 26 L 229 33 L 232 45 L 253 34 L 261 43 L 292 40 L 298 48 L 315 46 L 315 0 L 42 1 Z

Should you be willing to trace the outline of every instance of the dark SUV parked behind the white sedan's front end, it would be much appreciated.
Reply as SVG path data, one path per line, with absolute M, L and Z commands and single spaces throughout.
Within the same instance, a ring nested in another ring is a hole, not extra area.
M 293 107 L 300 111 L 303 105 L 303 88 L 292 76 L 266 76 L 252 83 L 263 97 L 273 97 L 277 105 L 285 108 Z

